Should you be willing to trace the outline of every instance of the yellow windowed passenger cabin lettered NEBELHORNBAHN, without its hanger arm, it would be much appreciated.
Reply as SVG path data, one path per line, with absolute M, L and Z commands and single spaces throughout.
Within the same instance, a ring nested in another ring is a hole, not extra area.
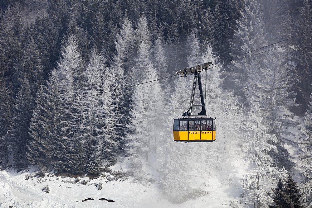
M 173 140 L 177 142 L 212 142 L 216 139 L 214 118 L 178 118 L 173 121 Z

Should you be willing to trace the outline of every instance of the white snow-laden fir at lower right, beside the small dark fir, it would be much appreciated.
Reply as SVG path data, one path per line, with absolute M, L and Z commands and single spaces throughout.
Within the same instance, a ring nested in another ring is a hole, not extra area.
M 276 178 L 284 178 L 285 169 L 279 169 L 275 166 L 275 161 L 270 153 L 277 152 L 274 143 L 278 139 L 274 134 L 266 132 L 266 126 L 263 125 L 260 104 L 253 102 L 246 121 L 248 133 L 244 143 L 244 151 L 247 159 L 254 165 L 249 173 L 241 179 L 244 187 L 244 199 L 249 203 L 255 204 L 256 207 L 267 207 L 273 199 L 269 196 L 272 183 Z

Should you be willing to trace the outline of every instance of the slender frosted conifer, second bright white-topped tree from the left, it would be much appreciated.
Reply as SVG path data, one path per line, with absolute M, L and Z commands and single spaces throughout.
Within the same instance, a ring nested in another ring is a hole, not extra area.
M 105 59 L 102 54 L 99 54 L 95 48 L 93 48 L 89 65 L 85 71 L 85 83 L 83 96 L 92 96 L 108 90 L 105 86 L 105 79 L 108 79 L 105 74 Z M 102 139 L 100 135 L 104 133 L 104 119 L 105 119 L 105 96 L 98 95 L 82 99 L 78 102 L 78 105 L 82 108 L 82 122 L 80 129 L 82 135 L 80 138 L 82 144 L 88 148 L 89 161 L 87 164 L 87 173 L 91 175 L 97 175 L 99 172 L 101 154 L 99 154 L 99 144 Z

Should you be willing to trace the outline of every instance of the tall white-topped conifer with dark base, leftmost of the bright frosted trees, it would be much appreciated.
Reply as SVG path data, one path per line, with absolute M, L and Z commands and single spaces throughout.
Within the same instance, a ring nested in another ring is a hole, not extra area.
M 54 163 L 55 169 L 59 173 L 82 173 L 85 161 L 85 146 L 81 144 L 79 137 L 81 135 L 81 108 L 78 101 L 68 102 L 82 95 L 83 66 L 81 66 L 81 56 L 78 50 L 76 37 L 71 35 L 68 42 L 64 45 L 62 56 L 58 64 L 58 73 L 60 81 L 60 99 L 61 102 L 67 102 L 60 106 L 61 116 L 61 137 L 65 144 L 64 154 Z

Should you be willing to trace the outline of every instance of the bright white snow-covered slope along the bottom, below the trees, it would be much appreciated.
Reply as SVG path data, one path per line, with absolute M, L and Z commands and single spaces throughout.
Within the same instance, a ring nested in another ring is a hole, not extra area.
M 232 175 L 237 180 L 230 185 L 222 182 L 222 176 L 207 179 L 205 182 L 194 181 L 193 184 L 206 188 L 207 195 L 182 204 L 171 203 L 164 196 L 157 181 L 142 185 L 134 182 L 131 177 L 110 180 L 112 175 L 91 180 L 88 177 L 79 177 L 78 180 L 52 174 L 41 178 L 34 177 L 37 175 L 35 168 L 23 173 L 16 173 L 14 170 L 2 171 L 0 207 L 230 207 L 231 203 L 234 205 L 231 207 L 241 207 L 239 179 L 246 171 L 242 167 L 242 164 L 237 164 Z M 111 168 L 120 169 L 120 166 Z M 86 182 L 85 185 L 81 183 L 83 181 Z M 98 189 L 99 183 L 103 187 L 101 190 Z M 42 191 L 46 185 L 49 186 L 49 193 Z M 88 198 L 93 200 L 81 202 Z M 114 202 L 100 201 L 101 198 Z

